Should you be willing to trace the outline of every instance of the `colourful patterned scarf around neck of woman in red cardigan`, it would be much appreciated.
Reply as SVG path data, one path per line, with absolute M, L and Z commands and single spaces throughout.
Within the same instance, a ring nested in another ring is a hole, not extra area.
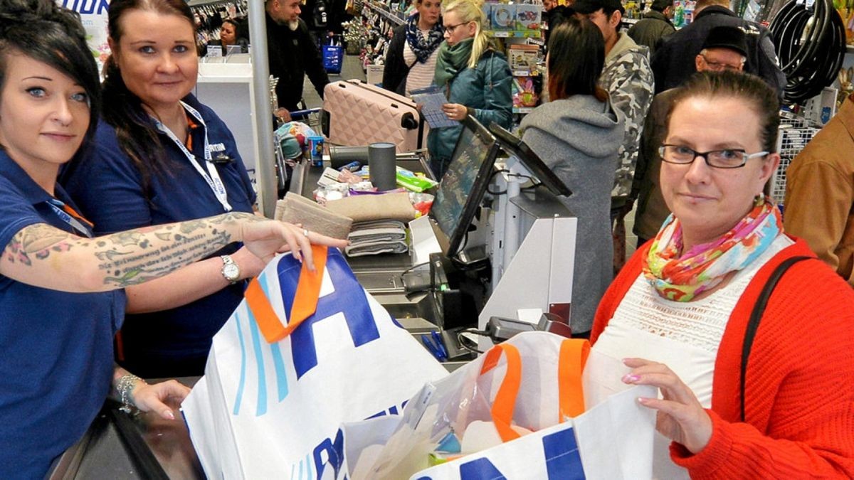
M 682 227 L 671 214 L 643 259 L 643 274 L 658 294 L 691 301 L 720 284 L 761 255 L 782 232 L 782 218 L 768 197 L 757 196 L 753 209 L 734 228 L 711 243 L 682 253 Z

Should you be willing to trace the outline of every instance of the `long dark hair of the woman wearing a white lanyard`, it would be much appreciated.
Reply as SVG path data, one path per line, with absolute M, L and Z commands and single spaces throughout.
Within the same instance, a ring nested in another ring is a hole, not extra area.
M 132 10 L 149 10 L 163 15 L 182 16 L 190 22 L 195 37 L 196 24 L 193 12 L 184 0 L 113 0 L 109 5 L 107 31 L 118 50 L 122 30 L 122 16 Z M 143 188 L 150 190 L 152 175 L 167 175 L 169 159 L 164 153 L 160 135 L 143 101 L 128 90 L 121 78 L 115 55 L 109 56 L 104 65 L 103 117 L 116 132 L 119 146 L 131 158 L 143 177 Z

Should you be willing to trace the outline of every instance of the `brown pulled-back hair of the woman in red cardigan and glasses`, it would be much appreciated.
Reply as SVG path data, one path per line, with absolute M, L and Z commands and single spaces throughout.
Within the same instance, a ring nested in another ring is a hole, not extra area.
M 681 86 L 677 87 L 670 108 L 667 111 L 667 127 L 670 129 L 670 116 L 679 103 L 693 97 L 728 97 L 743 102 L 759 117 L 759 136 L 763 150 L 777 150 L 777 129 L 780 127 L 780 101 L 777 93 L 763 79 L 751 73 L 705 72 L 694 73 Z M 713 114 L 710 112 L 710 114 Z

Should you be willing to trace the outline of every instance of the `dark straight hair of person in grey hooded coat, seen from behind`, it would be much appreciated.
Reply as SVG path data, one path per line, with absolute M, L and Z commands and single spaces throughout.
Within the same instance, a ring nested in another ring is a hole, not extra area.
M 604 102 L 608 95 L 599 86 L 604 66 L 605 39 L 599 27 L 586 18 L 564 18 L 548 41 L 549 97 L 593 95 Z

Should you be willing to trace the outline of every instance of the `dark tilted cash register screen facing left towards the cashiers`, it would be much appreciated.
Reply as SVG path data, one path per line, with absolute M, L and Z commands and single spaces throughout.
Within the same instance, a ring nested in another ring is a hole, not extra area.
M 445 255 L 456 255 L 486 193 L 499 145 L 471 116 L 461 122 L 462 133 L 453 149 L 430 215 L 447 237 Z

